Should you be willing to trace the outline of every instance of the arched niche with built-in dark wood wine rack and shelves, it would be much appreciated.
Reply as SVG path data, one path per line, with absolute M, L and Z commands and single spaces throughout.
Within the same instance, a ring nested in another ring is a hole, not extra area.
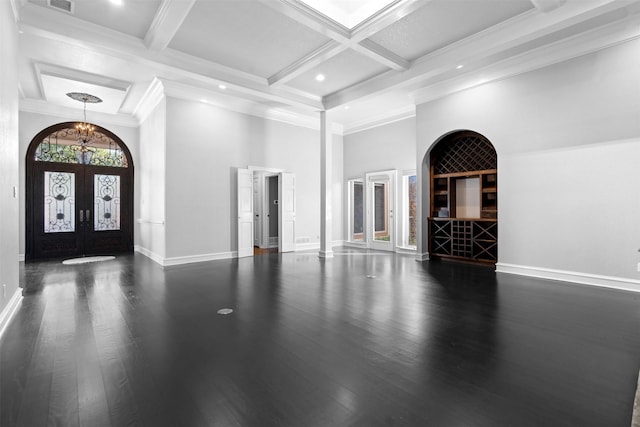
M 498 157 L 487 138 L 453 132 L 431 150 L 429 256 L 498 260 Z

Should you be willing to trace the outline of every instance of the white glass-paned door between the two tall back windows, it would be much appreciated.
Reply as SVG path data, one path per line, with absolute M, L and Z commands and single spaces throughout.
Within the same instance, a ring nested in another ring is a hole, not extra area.
M 395 250 L 395 171 L 367 174 L 367 246 Z

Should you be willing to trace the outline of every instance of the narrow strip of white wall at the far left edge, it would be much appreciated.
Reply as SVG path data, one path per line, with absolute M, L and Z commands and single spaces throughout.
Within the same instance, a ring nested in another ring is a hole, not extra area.
M 18 290 L 18 29 L 0 2 L 0 312 Z

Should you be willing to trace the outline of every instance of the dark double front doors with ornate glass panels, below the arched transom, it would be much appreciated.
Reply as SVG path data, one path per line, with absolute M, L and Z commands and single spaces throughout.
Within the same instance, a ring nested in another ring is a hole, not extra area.
M 132 250 L 127 168 L 36 162 L 32 173 L 27 259 Z

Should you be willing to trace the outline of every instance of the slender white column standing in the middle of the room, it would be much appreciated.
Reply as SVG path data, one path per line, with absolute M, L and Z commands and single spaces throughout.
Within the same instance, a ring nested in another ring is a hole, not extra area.
M 320 112 L 320 258 L 333 258 L 333 140 L 327 112 Z

